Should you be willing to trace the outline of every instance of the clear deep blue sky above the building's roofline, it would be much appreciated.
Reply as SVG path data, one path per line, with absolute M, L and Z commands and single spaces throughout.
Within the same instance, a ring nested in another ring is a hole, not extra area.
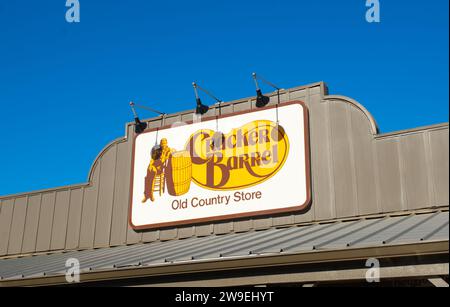
M 76 24 L 65 0 L 0 2 L 0 195 L 85 182 L 129 100 L 191 109 L 194 80 L 225 101 L 253 71 L 323 80 L 382 132 L 448 122 L 448 0 L 380 0 L 378 24 L 365 0 L 79 1 Z

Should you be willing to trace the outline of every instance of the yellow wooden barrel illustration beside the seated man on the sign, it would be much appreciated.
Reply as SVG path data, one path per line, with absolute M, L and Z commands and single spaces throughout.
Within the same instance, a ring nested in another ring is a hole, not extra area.
M 189 191 L 192 180 L 192 161 L 188 151 L 172 153 L 166 168 L 167 192 L 180 196 Z

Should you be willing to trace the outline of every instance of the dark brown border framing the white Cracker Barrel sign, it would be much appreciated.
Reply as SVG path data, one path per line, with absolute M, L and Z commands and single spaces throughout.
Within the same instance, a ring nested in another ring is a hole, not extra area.
M 206 118 L 202 118 L 202 122 L 215 120 L 216 118 L 226 118 L 236 115 L 242 115 L 247 113 L 259 112 L 264 110 L 275 109 L 278 107 L 299 104 L 303 108 L 303 123 L 304 123 L 304 140 L 305 140 L 305 171 L 306 171 L 306 201 L 301 205 L 295 205 L 292 207 L 280 208 L 280 209 L 268 209 L 268 210 L 260 210 L 260 211 L 252 211 L 245 213 L 235 213 L 235 214 L 227 214 L 227 215 L 218 215 L 211 217 L 202 217 L 196 219 L 182 220 L 182 221 L 174 221 L 174 222 L 165 222 L 165 223 L 156 223 L 156 224 L 147 224 L 136 226 L 132 223 L 132 207 L 133 207 L 133 181 L 134 181 L 134 158 L 135 158 L 135 149 L 136 149 L 136 138 L 144 133 L 149 133 L 153 131 L 160 131 L 165 129 L 172 128 L 171 125 L 166 125 L 160 128 L 153 129 L 145 129 L 142 133 L 136 134 L 133 136 L 133 150 L 131 157 L 131 179 L 130 179 L 130 196 L 129 196 L 129 204 L 128 204 L 128 224 L 134 230 L 144 230 L 144 229 L 156 229 L 156 228 L 165 228 L 170 226 L 181 226 L 181 225 L 194 225 L 197 223 L 205 223 L 212 221 L 225 221 L 231 219 L 238 219 L 243 217 L 255 217 L 255 216 L 263 216 L 263 215 L 271 215 L 271 214 L 279 214 L 279 213 L 288 213 L 295 211 L 302 211 L 306 209 L 311 204 L 311 159 L 310 159 L 310 143 L 309 143 L 309 110 L 306 104 L 300 100 L 292 100 L 288 102 L 280 103 L 279 105 L 271 105 L 263 108 L 256 108 L 244 111 L 237 111 L 229 114 L 224 114 L 221 116 L 208 116 Z M 188 125 L 193 124 L 193 120 L 189 120 L 184 122 Z

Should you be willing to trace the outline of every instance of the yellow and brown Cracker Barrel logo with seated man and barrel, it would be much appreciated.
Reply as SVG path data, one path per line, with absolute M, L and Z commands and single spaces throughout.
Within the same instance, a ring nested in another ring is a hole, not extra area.
M 202 129 L 177 151 L 161 139 L 151 152 L 143 203 L 168 193 L 187 193 L 191 182 L 209 190 L 239 190 L 274 176 L 289 153 L 284 129 L 269 120 L 256 120 L 227 134 Z

